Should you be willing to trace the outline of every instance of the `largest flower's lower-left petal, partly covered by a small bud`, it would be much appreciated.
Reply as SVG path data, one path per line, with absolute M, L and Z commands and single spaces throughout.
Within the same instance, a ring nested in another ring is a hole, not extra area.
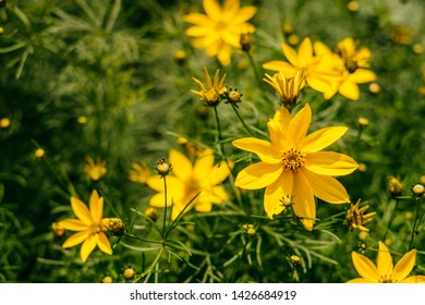
M 292 196 L 292 172 L 283 172 L 278 180 L 266 187 L 264 193 L 264 209 L 269 218 L 274 218 L 284 210 L 281 199 L 284 196 Z

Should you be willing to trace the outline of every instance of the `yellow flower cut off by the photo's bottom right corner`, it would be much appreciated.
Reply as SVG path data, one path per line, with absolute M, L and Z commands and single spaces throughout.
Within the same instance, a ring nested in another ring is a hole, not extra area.
M 387 246 L 382 242 L 379 242 L 376 266 L 366 256 L 356 252 L 352 252 L 352 258 L 361 278 L 350 280 L 348 283 L 425 283 L 424 276 L 409 277 L 416 261 L 416 249 L 404 254 L 396 264 L 396 267 Z

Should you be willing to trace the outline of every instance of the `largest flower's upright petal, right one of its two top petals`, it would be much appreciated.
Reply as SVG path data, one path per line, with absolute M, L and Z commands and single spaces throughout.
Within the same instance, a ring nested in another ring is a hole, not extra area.
M 309 108 L 309 105 L 306 103 L 304 108 L 295 114 L 295 117 L 291 120 L 291 123 L 289 124 L 288 139 L 296 149 L 301 149 L 301 145 L 307 133 L 311 120 L 312 109 Z

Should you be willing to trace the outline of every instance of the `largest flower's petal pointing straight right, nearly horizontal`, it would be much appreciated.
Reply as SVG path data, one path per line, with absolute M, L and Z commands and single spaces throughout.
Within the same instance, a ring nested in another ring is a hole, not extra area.
M 305 157 L 305 168 L 325 175 L 345 175 L 352 173 L 359 164 L 349 156 L 333 151 L 316 151 Z

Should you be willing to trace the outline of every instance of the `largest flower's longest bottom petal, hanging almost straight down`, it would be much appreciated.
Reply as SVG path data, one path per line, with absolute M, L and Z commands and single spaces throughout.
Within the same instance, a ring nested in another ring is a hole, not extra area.
M 316 203 L 308 181 L 300 172 L 293 174 L 293 211 L 308 231 L 313 230 L 316 218 Z

